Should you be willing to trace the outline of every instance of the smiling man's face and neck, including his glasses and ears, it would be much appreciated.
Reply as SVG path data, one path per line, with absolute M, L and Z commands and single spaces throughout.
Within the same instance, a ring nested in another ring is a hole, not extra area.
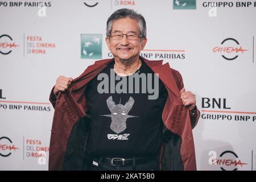
M 112 15 L 114 16 L 114 15 Z M 145 26 L 146 22 L 141 24 L 137 20 L 127 18 L 111 19 L 108 21 L 106 43 L 112 52 L 115 60 L 115 72 L 123 75 L 129 75 L 141 67 L 139 53 L 146 45 L 146 30 L 140 33 L 140 26 Z M 113 17 L 114 18 L 114 17 Z M 112 30 L 111 30 L 112 29 Z M 126 36 L 126 38 L 123 38 Z

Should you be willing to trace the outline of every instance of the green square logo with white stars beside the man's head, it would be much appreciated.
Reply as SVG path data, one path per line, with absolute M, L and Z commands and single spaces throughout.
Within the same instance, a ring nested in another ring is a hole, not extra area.
M 102 59 L 102 34 L 81 34 L 81 59 Z

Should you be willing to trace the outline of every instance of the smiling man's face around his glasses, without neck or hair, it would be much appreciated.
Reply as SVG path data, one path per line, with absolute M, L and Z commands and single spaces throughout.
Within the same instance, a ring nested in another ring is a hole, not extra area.
M 127 34 L 129 32 L 135 32 L 139 35 L 139 25 L 136 20 L 130 18 L 121 18 L 113 22 L 112 32 L 122 32 Z M 137 40 L 128 40 L 126 35 L 123 35 L 121 40 L 114 40 L 111 36 L 106 37 L 106 43 L 109 50 L 112 52 L 115 60 L 128 60 L 135 61 L 138 59 L 139 52 L 144 48 L 147 42 L 146 38 L 138 37 Z

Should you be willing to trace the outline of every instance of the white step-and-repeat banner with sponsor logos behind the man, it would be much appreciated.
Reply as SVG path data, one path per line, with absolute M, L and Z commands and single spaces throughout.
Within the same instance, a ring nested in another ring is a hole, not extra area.
M 146 19 L 141 55 L 196 94 L 197 169 L 255 171 L 256 0 L 1 0 L 0 170 L 48 170 L 52 86 L 112 57 L 106 20 L 121 8 Z

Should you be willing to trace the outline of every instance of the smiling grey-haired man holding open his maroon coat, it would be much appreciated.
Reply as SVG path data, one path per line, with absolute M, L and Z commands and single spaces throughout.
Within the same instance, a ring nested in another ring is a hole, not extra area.
M 169 64 L 139 56 L 146 42 L 143 16 L 117 10 L 106 28 L 114 58 L 57 78 L 49 170 L 196 170 L 195 95 Z

